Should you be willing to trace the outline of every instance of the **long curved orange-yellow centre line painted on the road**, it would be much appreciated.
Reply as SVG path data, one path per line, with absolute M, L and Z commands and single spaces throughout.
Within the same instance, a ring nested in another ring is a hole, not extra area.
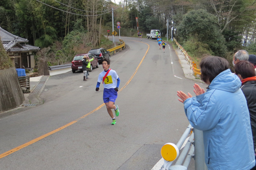
M 129 40 L 129 41 L 135 41 L 135 40 Z M 141 42 L 141 41 L 138 41 L 138 42 Z M 141 42 L 141 43 L 145 43 L 145 42 Z M 145 44 L 147 44 L 147 43 L 145 43 Z M 133 77 L 135 76 L 135 74 L 136 74 L 136 72 L 138 71 L 138 69 L 139 69 L 139 67 L 140 67 L 140 65 L 141 65 L 141 63 L 142 63 L 142 61 L 143 61 L 144 58 L 146 57 L 146 54 L 147 54 L 148 50 L 150 49 L 150 45 L 147 44 L 147 46 L 148 46 L 147 51 L 146 51 L 145 55 L 143 56 L 142 60 L 140 61 L 138 67 L 137 67 L 136 70 L 134 71 L 134 74 L 133 74 L 132 77 L 125 83 L 125 85 L 118 91 L 118 93 L 121 92 L 121 91 L 131 82 L 131 80 L 132 80 Z M 99 107 L 97 107 L 96 109 L 92 110 L 91 112 L 87 113 L 86 115 L 83 115 L 82 117 L 79 117 L 78 119 L 74 120 L 73 122 L 68 123 L 67 125 L 64 125 L 64 126 L 58 128 L 58 129 L 55 129 L 55 130 L 53 130 L 53 131 L 51 131 L 51 132 L 49 132 L 49 133 L 47 133 L 47 134 L 45 134 L 45 135 L 42 135 L 42 136 L 37 137 L 37 138 L 35 138 L 35 139 L 33 139 L 33 140 L 27 142 L 27 143 L 24 143 L 24 144 L 20 145 L 19 147 L 16 147 L 16 148 L 14 148 L 14 149 L 12 149 L 12 150 L 10 150 L 10 151 L 7 151 L 7 152 L 1 154 L 1 155 L 0 155 L 0 159 L 6 157 L 7 155 L 10 155 L 10 154 L 12 154 L 12 153 L 18 151 L 18 150 L 21 150 L 21 149 L 27 147 L 27 146 L 30 145 L 30 144 L 33 144 L 33 143 L 35 143 L 35 142 L 37 142 L 37 141 L 39 141 L 39 140 L 41 140 L 41 139 L 44 139 L 45 137 L 50 136 L 50 135 L 52 135 L 52 134 L 54 134 L 54 133 L 56 133 L 56 132 L 58 132 L 58 131 L 60 131 L 60 130 L 62 130 L 62 129 L 65 129 L 65 128 L 69 127 L 70 125 L 73 125 L 74 123 L 77 123 L 80 119 L 82 119 L 82 118 L 84 118 L 84 117 L 86 117 L 86 116 L 92 114 L 93 112 L 99 110 L 99 109 L 102 108 L 104 105 L 105 105 L 105 104 L 103 103 L 103 104 L 101 104 Z

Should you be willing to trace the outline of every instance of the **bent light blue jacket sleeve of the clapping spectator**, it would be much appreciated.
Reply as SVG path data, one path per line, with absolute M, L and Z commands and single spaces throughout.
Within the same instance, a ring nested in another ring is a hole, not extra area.
M 201 98 L 201 99 L 200 99 Z M 191 126 L 199 130 L 210 130 L 220 120 L 218 105 L 212 94 L 201 94 L 184 102 L 184 109 Z

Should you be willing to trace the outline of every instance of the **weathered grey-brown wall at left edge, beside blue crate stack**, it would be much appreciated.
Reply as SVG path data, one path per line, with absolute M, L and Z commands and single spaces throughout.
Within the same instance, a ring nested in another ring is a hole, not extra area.
M 24 100 L 16 69 L 0 70 L 0 113 L 20 106 Z

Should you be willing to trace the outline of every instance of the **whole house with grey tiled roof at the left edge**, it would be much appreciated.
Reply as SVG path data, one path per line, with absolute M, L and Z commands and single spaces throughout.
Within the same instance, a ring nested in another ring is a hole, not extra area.
M 0 27 L 0 38 L 7 54 L 11 57 L 16 68 L 33 69 L 35 67 L 34 54 L 40 50 L 37 46 L 32 46 L 25 38 L 18 37 Z

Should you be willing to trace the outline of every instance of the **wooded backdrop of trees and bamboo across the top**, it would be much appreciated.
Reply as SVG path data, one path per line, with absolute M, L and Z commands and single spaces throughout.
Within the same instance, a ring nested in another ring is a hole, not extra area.
M 136 35 L 135 17 L 144 35 L 151 29 L 165 35 L 168 19 L 175 38 L 191 53 L 225 57 L 240 48 L 256 53 L 256 0 L 2 0 L 0 26 L 32 45 L 55 49 L 54 54 L 45 49 L 52 58 L 71 57 L 79 46 L 100 45 L 102 35 L 112 30 L 112 8 L 124 36 Z

